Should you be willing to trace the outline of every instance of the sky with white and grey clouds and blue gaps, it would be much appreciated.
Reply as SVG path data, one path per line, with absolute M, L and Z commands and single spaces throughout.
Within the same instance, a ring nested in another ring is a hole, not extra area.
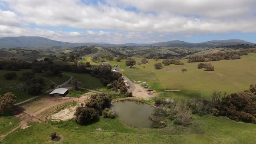
M 256 0 L 0 0 L 0 37 L 256 43 Z

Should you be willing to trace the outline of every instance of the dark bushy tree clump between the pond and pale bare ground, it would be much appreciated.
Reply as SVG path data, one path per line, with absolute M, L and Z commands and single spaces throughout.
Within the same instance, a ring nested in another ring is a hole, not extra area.
M 105 94 L 92 95 L 89 101 L 76 108 L 75 122 L 78 124 L 88 124 L 98 118 L 100 115 L 113 118 L 115 115 L 110 112 L 111 98 Z M 105 110 L 106 109 L 106 110 Z M 103 112 L 104 111 L 104 112 Z M 104 113 L 104 114 L 103 114 Z

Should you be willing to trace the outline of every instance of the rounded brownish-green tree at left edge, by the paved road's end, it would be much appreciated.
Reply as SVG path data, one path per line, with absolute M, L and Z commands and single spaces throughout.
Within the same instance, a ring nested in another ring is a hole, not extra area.
M 0 95 L 0 116 L 12 111 L 14 103 L 14 95 L 11 92 L 7 92 L 3 96 Z

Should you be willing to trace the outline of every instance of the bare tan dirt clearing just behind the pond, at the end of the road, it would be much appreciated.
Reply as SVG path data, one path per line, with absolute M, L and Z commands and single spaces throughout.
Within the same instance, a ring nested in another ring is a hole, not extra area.
M 136 98 L 149 99 L 156 96 L 154 91 L 148 92 L 147 89 L 142 88 L 139 84 L 134 84 L 135 90 L 132 92 L 132 95 Z

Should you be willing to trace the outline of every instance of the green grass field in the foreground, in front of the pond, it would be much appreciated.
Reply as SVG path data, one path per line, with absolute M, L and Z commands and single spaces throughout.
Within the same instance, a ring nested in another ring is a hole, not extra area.
M 172 126 L 164 129 L 131 128 L 118 118 L 100 118 L 98 122 L 81 126 L 74 121 L 60 124 L 29 122 L 31 127 L 17 129 L 9 134 L 3 144 L 51 143 L 49 134 L 53 131 L 62 137 L 61 143 L 242 143 L 254 144 L 252 135 L 256 124 L 236 122 L 225 117 L 194 115 L 199 124 L 196 129 Z M 59 128 L 58 128 L 59 127 Z M 38 132 L 40 131 L 40 132 Z M 16 137 L 13 139 L 13 137 Z

